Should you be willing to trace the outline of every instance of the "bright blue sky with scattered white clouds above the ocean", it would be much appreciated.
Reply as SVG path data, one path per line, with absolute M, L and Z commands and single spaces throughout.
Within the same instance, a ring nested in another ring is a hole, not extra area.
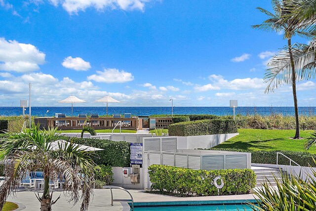
M 270 0 L 0 0 L 0 106 L 110 95 L 115 106 L 292 106 L 265 94 L 266 64 L 286 41 L 254 30 Z M 308 41 L 294 38 L 293 42 Z M 315 106 L 315 80 L 298 84 Z

